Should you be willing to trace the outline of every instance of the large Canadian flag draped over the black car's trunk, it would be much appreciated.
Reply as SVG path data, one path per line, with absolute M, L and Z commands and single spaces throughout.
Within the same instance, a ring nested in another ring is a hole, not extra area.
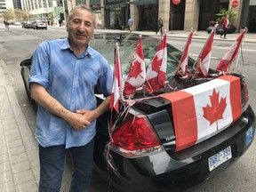
M 220 76 L 161 96 L 172 103 L 176 151 L 225 130 L 242 114 L 240 79 Z

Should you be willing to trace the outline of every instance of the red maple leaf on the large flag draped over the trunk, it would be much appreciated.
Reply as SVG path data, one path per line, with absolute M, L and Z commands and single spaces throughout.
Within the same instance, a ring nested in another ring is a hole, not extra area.
M 212 92 L 212 96 L 210 96 L 212 107 L 207 104 L 207 106 L 203 108 L 204 118 L 210 122 L 210 125 L 212 125 L 214 122 L 218 122 L 219 119 L 223 118 L 222 115 L 225 111 L 225 108 L 227 107 L 226 97 L 221 98 L 219 102 L 219 95 L 220 92 L 217 93 L 214 89 Z

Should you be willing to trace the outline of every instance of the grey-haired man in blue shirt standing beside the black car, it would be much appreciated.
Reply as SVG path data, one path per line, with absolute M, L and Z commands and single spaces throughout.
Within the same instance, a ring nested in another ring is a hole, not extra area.
M 60 191 L 68 151 L 74 166 L 69 192 L 90 185 L 96 119 L 108 110 L 113 82 L 108 61 L 89 45 L 94 27 L 90 8 L 77 5 L 68 14 L 68 37 L 44 41 L 32 56 L 29 85 L 38 104 L 39 192 Z M 98 107 L 96 86 L 106 97 Z

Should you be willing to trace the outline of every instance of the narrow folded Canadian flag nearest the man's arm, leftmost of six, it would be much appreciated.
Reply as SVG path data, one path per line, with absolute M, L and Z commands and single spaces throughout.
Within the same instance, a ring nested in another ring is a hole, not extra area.
M 116 44 L 114 56 L 114 78 L 110 97 L 109 108 L 115 108 L 116 113 L 119 112 L 120 87 L 122 86 L 123 72 L 121 67 L 119 46 Z

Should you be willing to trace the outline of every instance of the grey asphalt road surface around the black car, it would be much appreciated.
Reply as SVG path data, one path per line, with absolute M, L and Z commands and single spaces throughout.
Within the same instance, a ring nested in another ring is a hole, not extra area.
M 1 24 L 0 24 L 1 25 Z M 36 111 L 33 105 L 29 103 L 24 86 L 20 77 L 20 61 L 29 58 L 36 49 L 36 46 L 45 39 L 53 39 L 67 35 L 65 28 L 48 28 L 47 30 L 25 29 L 17 26 L 11 26 L 10 31 L 5 31 L 3 26 L 0 26 L 0 32 L 4 36 L 0 37 L 0 59 L 4 60 L 5 65 L 1 66 L 4 73 L 8 75 L 8 82 L 13 86 L 14 92 L 20 102 L 20 107 L 28 120 L 28 124 L 32 131 L 35 129 Z M 168 42 L 183 49 L 186 39 L 177 37 L 168 37 Z M 202 50 L 205 40 L 194 39 L 191 48 L 190 56 L 196 58 Z M 232 42 L 215 41 L 212 47 L 212 63 L 211 67 L 216 68 L 220 59 L 228 51 Z M 250 101 L 252 108 L 256 108 L 256 91 L 255 91 L 255 44 L 244 44 L 244 66 L 239 65 L 236 71 L 240 71 L 246 76 Z M 239 58 L 241 61 L 242 57 Z M 189 192 L 229 192 L 229 191 L 255 191 L 256 188 L 256 141 L 252 143 L 252 147 L 245 155 L 232 167 L 225 172 L 221 172 L 211 180 L 206 180 L 204 183 L 191 188 Z M 70 172 L 72 167 L 67 165 L 67 169 L 63 178 L 61 191 L 68 191 L 70 180 Z M 103 182 L 97 175 L 92 178 L 92 187 L 88 192 L 107 192 L 108 183 Z M 114 190 L 111 190 L 114 192 Z

